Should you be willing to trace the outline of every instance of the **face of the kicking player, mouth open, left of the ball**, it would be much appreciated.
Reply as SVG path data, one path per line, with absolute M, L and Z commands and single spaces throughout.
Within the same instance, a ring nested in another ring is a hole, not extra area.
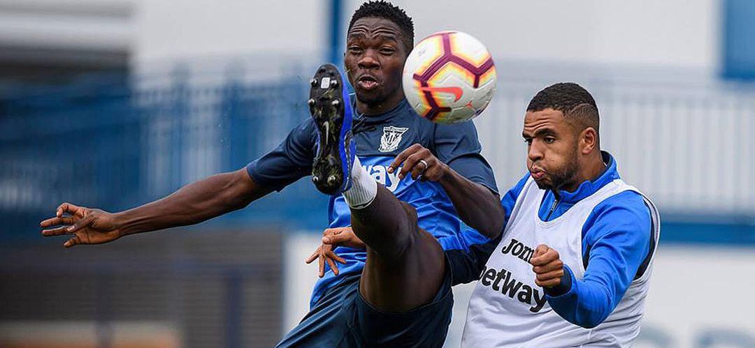
M 361 18 L 351 27 L 344 65 L 360 111 L 387 111 L 404 99 L 401 75 L 408 52 L 401 38 L 399 26 L 383 18 Z

